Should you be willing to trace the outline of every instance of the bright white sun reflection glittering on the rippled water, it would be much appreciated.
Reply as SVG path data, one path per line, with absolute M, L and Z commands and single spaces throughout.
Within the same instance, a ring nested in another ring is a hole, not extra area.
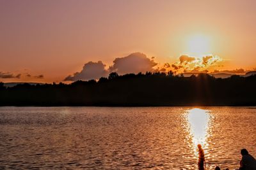
M 194 108 L 188 110 L 188 123 L 189 123 L 189 134 L 193 142 L 193 150 L 195 156 L 198 156 L 197 145 L 202 145 L 204 150 L 208 147 L 207 137 L 209 136 L 209 120 L 210 115 L 208 110 L 202 110 L 199 108 Z

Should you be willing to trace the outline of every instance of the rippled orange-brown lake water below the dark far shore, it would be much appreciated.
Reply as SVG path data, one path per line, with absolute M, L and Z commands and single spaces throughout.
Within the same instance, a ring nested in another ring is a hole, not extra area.
M 0 169 L 207 169 L 256 157 L 256 108 L 0 107 Z

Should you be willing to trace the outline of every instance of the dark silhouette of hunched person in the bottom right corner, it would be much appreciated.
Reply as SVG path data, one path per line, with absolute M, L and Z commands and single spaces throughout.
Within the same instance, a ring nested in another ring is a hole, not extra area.
M 256 160 L 246 149 L 241 150 L 242 160 L 239 170 L 256 170 Z

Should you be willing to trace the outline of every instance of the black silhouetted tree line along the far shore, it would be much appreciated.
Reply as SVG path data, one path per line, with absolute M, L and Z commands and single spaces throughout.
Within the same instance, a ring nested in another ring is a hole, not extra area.
M 256 76 L 110 73 L 98 81 L 4 87 L 1 106 L 255 106 Z

